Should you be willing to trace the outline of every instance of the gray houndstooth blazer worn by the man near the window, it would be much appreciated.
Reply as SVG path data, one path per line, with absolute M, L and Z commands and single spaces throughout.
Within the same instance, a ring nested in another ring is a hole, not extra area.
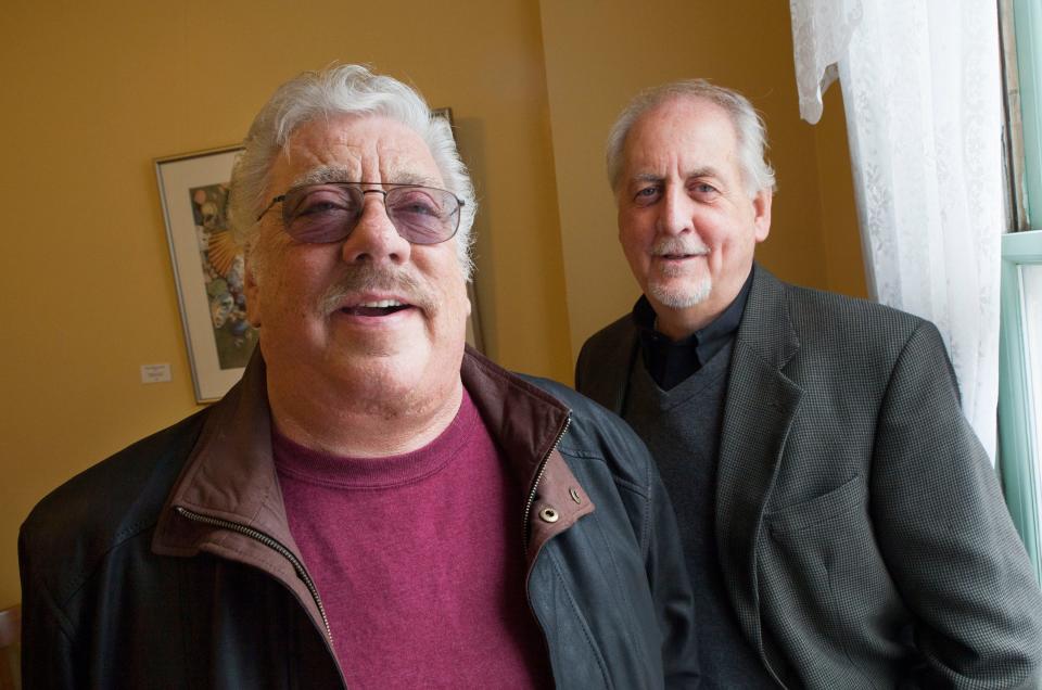
M 763 663 L 789 688 L 1039 687 L 1042 595 L 937 329 L 754 271 L 715 532 Z M 626 316 L 576 387 L 621 413 L 637 350 Z

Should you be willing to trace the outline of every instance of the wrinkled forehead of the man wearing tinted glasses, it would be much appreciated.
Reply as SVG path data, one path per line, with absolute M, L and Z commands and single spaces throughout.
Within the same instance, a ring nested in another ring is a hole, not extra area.
M 396 182 L 442 187 L 434 157 L 410 127 L 384 116 L 333 115 L 298 127 L 272 163 L 270 186 Z

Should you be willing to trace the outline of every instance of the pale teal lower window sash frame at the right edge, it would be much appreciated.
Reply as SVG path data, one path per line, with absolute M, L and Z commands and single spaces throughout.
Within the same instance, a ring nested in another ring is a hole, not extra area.
M 1002 304 L 999 336 L 999 438 L 1002 481 L 1006 504 L 1024 539 L 1042 583 L 1042 448 L 1035 447 L 1038 424 L 1032 410 L 1042 400 L 1031 399 L 1027 357 L 1027 331 L 1020 271 L 1027 265 L 1042 265 L 1042 230 L 1002 237 Z

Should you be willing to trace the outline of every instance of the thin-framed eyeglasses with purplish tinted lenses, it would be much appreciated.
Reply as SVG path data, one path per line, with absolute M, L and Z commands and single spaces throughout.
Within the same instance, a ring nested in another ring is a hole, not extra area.
M 383 194 L 383 207 L 395 230 L 412 244 L 445 242 L 459 228 L 463 202 L 449 191 L 418 184 L 381 184 L 387 189 L 363 189 L 378 182 L 303 184 L 271 200 L 257 216 L 281 202 L 285 231 L 297 242 L 327 243 L 347 239 L 365 207 L 366 194 Z

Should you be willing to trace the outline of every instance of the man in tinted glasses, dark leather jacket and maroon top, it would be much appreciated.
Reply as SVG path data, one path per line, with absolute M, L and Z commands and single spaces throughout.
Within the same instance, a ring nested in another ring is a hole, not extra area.
M 644 446 L 465 349 L 473 188 L 420 97 L 282 86 L 231 206 L 259 352 L 28 518 L 26 687 L 694 685 Z

